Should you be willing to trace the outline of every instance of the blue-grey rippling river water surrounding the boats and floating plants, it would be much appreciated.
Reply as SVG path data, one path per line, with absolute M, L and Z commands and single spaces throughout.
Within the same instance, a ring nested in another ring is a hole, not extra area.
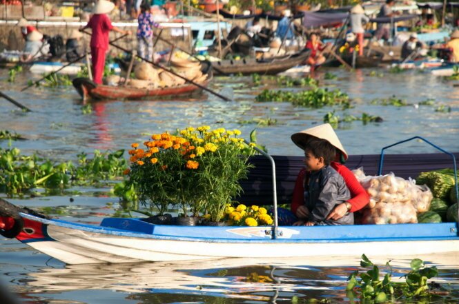
M 336 130 L 349 154 L 378 154 L 385 145 L 423 136 L 451 152 L 459 152 L 459 87 L 428 72 L 389 73 L 386 70 L 319 70 L 321 85 L 339 88 L 351 97 L 353 107 L 309 109 L 290 103 L 257 103 L 256 94 L 273 83 L 256 86 L 251 77 L 222 77 L 209 88 L 232 97 L 222 101 L 205 94 L 187 101 L 108 101 L 83 108 L 73 88 L 31 88 L 19 92 L 28 79 L 24 72 L 8 83 L 7 70 L 0 71 L 1 91 L 33 110 L 24 113 L 0 100 L 0 130 L 26 137 L 12 145 L 24 154 L 39 152 L 55 160 L 77 160 L 79 152 L 128 149 L 153 132 L 193 125 L 242 130 L 254 128 L 257 139 L 271 154 L 301 155 L 290 141 L 293 132 L 322 123 L 327 112 L 361 116 L 363 112 L 382 117 L 382 123 L 353 121 Z M 333 73 L 336 79 L 326 80 Z M 382 75 L 380 75 L 382 73 Z M 297 90 L 297 89 L 284 89 Z M 375 105 L 373 99 L 395 95 L 409 106 Z M 432 99 L 434 105 L 419 105 Z M 440 105 L 451 111 L 436 111 Z M 86 110 L 85 110 L 86 109 Z M 271 125 L 248 123 L 253 119 L 275 121 Z M 0 142 L 2 148 L 8 142 Z M 419 141 L 391 148 L 389 153 L 435 152 Z M 37 208 L 61 219 L 97 224 L 113 214 L 117 199 L 108 189 L 78 188 L 78 195 L 51 196 L 12 203 Z M 364 252 L 362 252 L 364 254 Z M 409 269 L 416 256 L 393 257 L 395 276 Z M 371 259 L 371 256 L 369 257 Z M 439 263 L 435 281 L 449 285 L 459 301 L 458 257 L 424 258 Z M 123 265 L 64 265 L 16 240 L 0 239 L 0 284 L 24 303 L 306 303 L 308 299 L 351 303 L 346 296 L 346 277 L 360 269 L 360 257 L 316 260 L 247 261 L 245 259 L 193 263 L 134 263 Z M 377 261 L 384 265 L 387 261 Z M 431 299 L 436 303 L 438 298 Z

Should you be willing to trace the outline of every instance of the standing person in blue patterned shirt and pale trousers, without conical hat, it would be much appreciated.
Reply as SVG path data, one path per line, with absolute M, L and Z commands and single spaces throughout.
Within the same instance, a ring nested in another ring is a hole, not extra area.
M 153 20 L 150 4 L 144 2 L 140 6 L 139 28 L 137 28 L 137 52 L 140 57 L 153 61 L 153 28 L 159 24 Z

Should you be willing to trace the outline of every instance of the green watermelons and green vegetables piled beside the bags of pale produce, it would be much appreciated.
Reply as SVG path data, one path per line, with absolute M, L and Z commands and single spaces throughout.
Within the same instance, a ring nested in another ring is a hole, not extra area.
M 454 171 L 443 169 L 419 174 L 416 183 L 427 185 L 432 191 L 433 201 L 426 214 L 419 214 L 420 223 L 441 223 L 441 221 L 458 221 L 458 199 Z M 440 219 L 440 221 L 433 221 Z

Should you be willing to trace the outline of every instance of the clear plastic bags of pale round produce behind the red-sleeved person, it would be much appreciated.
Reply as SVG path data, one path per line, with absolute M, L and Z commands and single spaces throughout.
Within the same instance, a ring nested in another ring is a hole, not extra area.
M 393 173 L 366 176 L 362 169 L 353 172 L 370 196 L 370 203 L 363 210 L 362 223 L 418 223 L 417 214 L 429 210 L 432 200 L 429 188 Z

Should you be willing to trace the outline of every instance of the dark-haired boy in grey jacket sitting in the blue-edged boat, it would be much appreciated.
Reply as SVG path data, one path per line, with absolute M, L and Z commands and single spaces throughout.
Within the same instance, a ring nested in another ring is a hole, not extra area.
M 306 223 L 295 223 L 306 226 L 313 225 L 352 225 L 352 213 L 345 214 L 338 220 L 327 220 L 335 205 L 344 203 L 351 198 L 349 189 L 342 176 L 333 168 L 331 161 L 335 159 L 336 149 L 329 141 L 311 137 L 304 145 L 304 163 L 309 176 L 304 181 L 304 204 L 309 210 Z

